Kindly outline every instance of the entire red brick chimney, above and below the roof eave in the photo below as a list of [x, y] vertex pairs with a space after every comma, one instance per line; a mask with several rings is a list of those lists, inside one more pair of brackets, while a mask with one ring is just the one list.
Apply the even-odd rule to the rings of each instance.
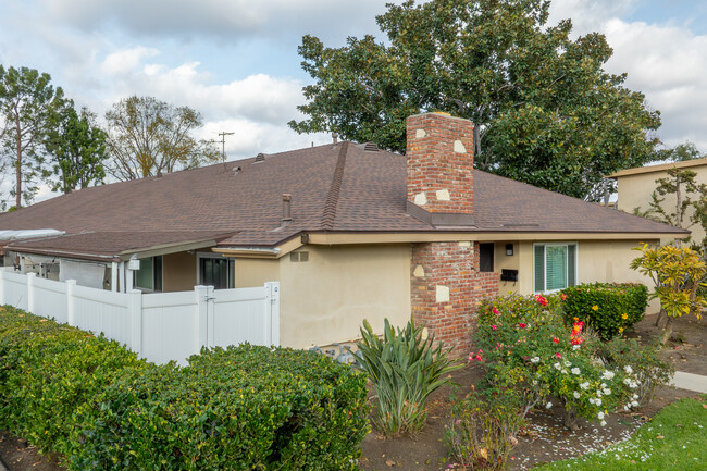
[[[408, 213], [439, 228], [472, 228], [473, 124], [446, 113], [418, 114], [408, 117], [407, 138]], [[498, 294], [498, 275], [479, 271], [479, 243], [470, 234], [412, 244], [410, 271], [415, 322], [466, 355], [476, 306]]]

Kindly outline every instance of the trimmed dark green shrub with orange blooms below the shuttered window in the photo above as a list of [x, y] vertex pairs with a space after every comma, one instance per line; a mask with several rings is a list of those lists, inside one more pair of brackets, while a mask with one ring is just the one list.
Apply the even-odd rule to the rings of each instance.
[[565, 321], [573, 318], [591, 325], [608, 340], [641, 321], [648, 306], [648, 288], [641, 284], [594, 283], [562, 292]]

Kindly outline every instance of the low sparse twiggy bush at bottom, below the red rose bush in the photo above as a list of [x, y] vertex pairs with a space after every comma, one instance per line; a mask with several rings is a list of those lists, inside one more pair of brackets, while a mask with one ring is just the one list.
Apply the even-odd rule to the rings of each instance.
[[503, 470], [524, 423], [522, 405], [512, 392], [482, 397], [472, 391], [452, 400], [445, 439], [451, 457], [468, 470]]

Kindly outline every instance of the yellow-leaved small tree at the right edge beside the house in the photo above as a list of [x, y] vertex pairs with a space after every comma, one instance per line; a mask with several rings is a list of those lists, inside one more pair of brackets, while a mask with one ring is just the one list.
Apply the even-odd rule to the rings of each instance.
[[650, 248], [647, 244], [634, 250], [642, 252], [641, 257], [631, 262], [631, 268], [644, 275], [650, 276], [655, 284], [652, 298], [660, 300], [660, 314], [656, 325], [663, 315], [668, 317], [662, 342], [670, 338], [672, 323], [683, 314], [694, 314], [702, 318], [702, 311], [707, 308], [700, 287], [707, 275], [707, 263], [698, 252], [687, 247], [662, 246]]

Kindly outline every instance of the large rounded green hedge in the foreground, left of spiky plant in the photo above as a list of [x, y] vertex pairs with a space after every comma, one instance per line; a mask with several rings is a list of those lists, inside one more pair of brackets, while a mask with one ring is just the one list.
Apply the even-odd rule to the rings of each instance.
[[77, 442], [76, 470], [356, 470], [365, 377], [308, 351], [203, 351], [112, 385]]

